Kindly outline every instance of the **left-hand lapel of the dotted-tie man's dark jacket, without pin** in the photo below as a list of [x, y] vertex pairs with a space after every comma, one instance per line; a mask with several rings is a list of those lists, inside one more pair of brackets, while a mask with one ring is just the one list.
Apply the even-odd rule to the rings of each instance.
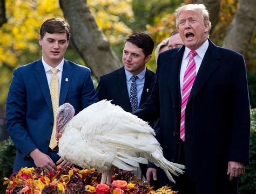
[[124, 106], [126, 110], [130, 110], [131, 112], [132, 109], [131, 109], [130, 98], [129, 98], [127, 85], [126, 85], [126, 75], [125, 75], [124, 67], [120, 68], [119, 71], [117, 71], [116, 81], [117, 81], [117, 87], [118, 87], [118, 90], [120, 91]]

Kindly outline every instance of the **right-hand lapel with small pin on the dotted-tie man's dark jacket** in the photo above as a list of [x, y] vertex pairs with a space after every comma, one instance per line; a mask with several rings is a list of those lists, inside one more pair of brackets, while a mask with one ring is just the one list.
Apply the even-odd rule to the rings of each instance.
[[145, 74], [145, 83], [142, 91], [142, 97], [140, 98], [139, 105], [142, 105], [146, 102], [147, 97], [150, 95], [150, 90], [152, 90], [152, 85], [154, 82], [154, 75], [150, 73], [148, 69], [146, 69], [146, 74]]

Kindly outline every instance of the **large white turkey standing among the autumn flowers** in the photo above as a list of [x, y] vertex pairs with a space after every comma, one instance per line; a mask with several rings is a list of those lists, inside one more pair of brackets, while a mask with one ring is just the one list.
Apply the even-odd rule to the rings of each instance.
[[183, 165], [165, 159], [150, 125], [120, 106], [101, 100], [74, 113], [69, 103], [58, 109], [59, 155], [82, 168], [96, 168], [103, 173], [101, 183], [111, 182], [114, 166], [131, 171], [147, 161], [163, 169], [172, 182], [171, 174], [183, 173]]

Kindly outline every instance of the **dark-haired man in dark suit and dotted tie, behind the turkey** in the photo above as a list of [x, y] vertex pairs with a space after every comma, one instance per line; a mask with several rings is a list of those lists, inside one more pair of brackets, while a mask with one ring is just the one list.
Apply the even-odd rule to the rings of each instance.
[[129, 35], [125, 39], [123, 50], [124, 67], [100, 76], [97, 87], [99, 100], [112, 100], [112, 104], [121, 106], [127, 112], [136, 110], [131, 100], [133, 94], [131, 90], [132, 77], [137, 76], [137, 107], [145, 103], [155, 79], [154, 72], [145, 67], [152, 57], [153, 48], [154, 42], [149, 35], [142, 32]]

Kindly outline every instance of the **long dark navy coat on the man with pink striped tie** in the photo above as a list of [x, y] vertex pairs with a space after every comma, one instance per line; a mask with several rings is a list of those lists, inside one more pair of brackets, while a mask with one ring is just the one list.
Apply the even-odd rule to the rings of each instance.
[[[197, 193], [236, 193], [237, 179], [228, 180], [227, 164], [249, 163], [246, 66], [242, 55], [208, 41], [185, 111], [185, 165]], [[147, 121], [160, 116], [159, 141], [172, 162], [180, 160], [179, 75], [184, 50], [185, 46], [159, 55], [152, 94], [134, 112]]]

